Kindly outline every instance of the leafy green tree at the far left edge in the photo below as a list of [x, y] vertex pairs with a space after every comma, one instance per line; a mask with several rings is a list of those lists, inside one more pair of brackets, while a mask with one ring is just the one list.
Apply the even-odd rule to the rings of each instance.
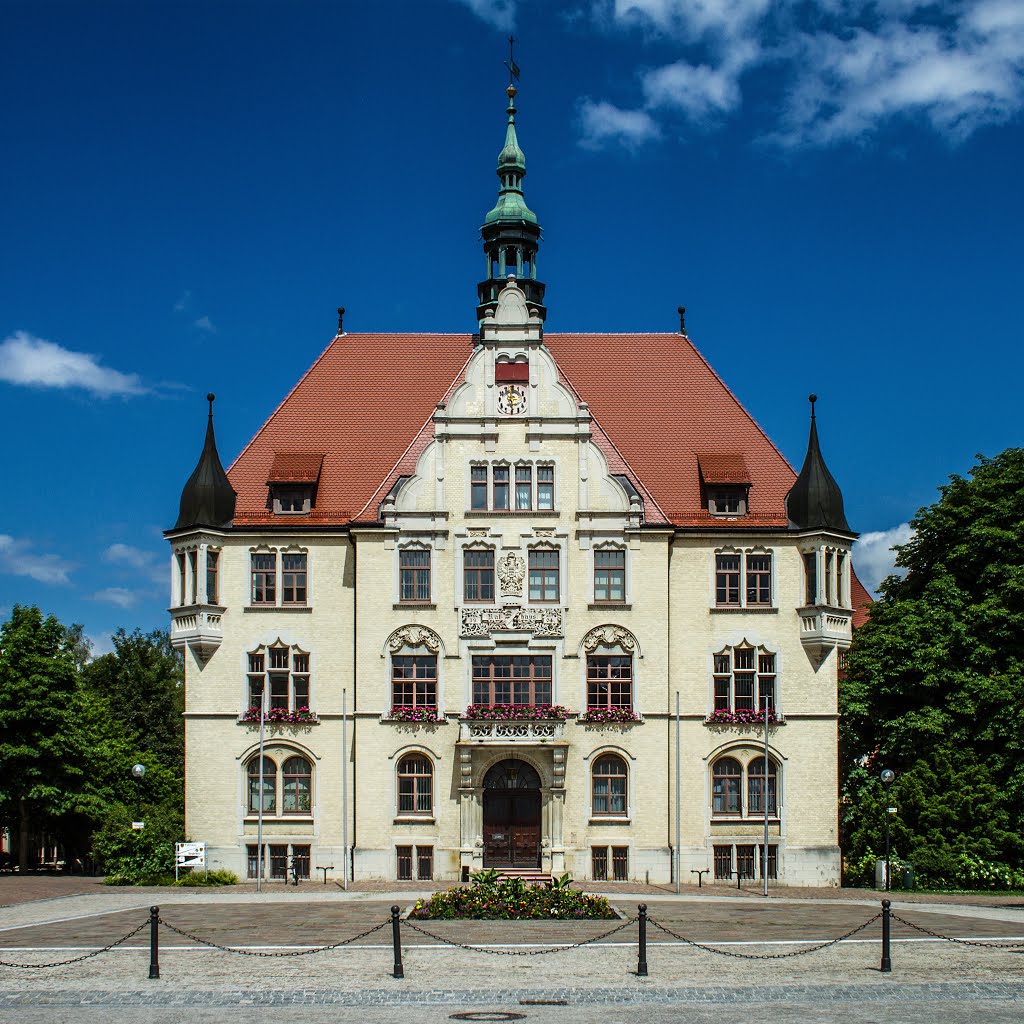
[[0, 813], [22, 869], [33, 835], [66, 813], [80, 787], [75, 757], [79, 637], [39, 608], [14, 605], [0, 626]]

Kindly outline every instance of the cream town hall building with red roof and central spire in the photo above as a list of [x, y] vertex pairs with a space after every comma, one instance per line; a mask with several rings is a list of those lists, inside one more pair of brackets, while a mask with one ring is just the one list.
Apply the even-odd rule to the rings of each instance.
[[472, 333], [339, 317], [226, 473], [210, 396], [167, 532], [188, 838], [267, 880], [838, 885], [866, 594], [813, 398], [798, 474], [682, 310], [545, 332], [515, 96]]

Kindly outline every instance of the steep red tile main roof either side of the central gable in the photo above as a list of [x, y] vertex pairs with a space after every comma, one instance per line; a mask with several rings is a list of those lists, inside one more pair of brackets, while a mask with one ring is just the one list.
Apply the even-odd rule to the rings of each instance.
[[[735, 528], [700, 501], [699, 458], [738, 456], [749, 526], [786, 525], [796, 474], [692, 343], [678, 334], [547, 334], [563, 381], [587, 401], [594, 442], [643, 495], [648, 522]], [[344, 334], [295, 385], [228, 470], [239, 526], [280, 524], [266, 481], [279, 453], [324, 454], [316, 525], [376, 520], [394, 478], [430, 442], [438, 401], [463, 379], [472, 337]], [[736, 482], [730, 480], [728, 482]], [[288, 520], [294, 528], [295, 518]]]

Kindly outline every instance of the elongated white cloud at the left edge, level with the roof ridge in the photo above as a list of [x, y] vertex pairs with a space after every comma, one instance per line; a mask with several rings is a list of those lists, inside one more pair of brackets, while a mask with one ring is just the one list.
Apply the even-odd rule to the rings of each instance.
[[96, 355], [73, 352], [25, 331], [0, 343], [0, 380], [27, 387], [82, 388], [100, 398], [150, 390], [137, 374], [101, 367]]

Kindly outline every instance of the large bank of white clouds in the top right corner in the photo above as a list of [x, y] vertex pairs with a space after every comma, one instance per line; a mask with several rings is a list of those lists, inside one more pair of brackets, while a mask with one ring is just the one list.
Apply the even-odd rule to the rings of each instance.
[[605, 31], [639, 27], [680, 56], [637, 69], [636, 109], [585, 100], [648, 118], [639, 134], [595, 135], [584, 121], [587, 147], [636, 146], [680, 116], [723, 121], [755, 70], [759, 101], [777, 112], [764, 139], [781, 146], [863, 140], [905, 118], [957, 143], [1024, 111], [1020, 0], [596, 0], [592, 12]]

